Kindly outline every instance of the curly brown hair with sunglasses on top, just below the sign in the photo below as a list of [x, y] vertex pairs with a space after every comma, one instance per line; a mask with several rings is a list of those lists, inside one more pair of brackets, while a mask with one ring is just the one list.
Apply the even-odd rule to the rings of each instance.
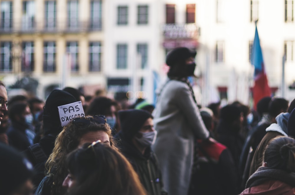
[[[91, 118], [92, 116], [86, 116], [86, 118]], [[50, 154], [47, 162], [45, 163], [46, 175], [52, 177], [53, 185], [51, 186], [51, 194], [59, 195], [64, 194], [65, 189], [63, 189], [63, 180], [68, 174], [65, 166], [65, 159], [68, 153], [75, 150], [80, 142], [83, 135], [88, 132], [104, 131], [109, 136], [110, 145], [112, 148], [117, 150], [115, 142], [111, 134], [110, 126], [105, 124], [99, 124], [94, 121], [89, 120], [89, 125], [77, 126], [71, 121], [66, 125], [63, 130], [58, 134], [53, 152]]]

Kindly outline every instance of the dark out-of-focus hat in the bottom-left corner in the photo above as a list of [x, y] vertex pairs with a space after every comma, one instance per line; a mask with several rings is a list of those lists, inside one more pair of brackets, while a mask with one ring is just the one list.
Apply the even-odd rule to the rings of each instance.
[[32, 164], [14, 148], [0, 143], [0, 159], [0, 194], [12, 193], [32, 177]]

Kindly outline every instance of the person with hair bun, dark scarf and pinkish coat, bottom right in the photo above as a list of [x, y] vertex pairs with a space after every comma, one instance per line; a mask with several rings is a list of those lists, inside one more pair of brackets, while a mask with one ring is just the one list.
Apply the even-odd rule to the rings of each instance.
[[265, 148], [263, 166], [250, 176], [244, 194], [294, 194], [295, 140], [279, 136]]

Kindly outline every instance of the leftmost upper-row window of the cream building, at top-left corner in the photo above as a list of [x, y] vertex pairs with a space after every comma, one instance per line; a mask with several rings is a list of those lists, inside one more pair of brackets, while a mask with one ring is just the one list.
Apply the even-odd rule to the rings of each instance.
[[1, 29], [12, 29], [12, 1], [1, 2]]

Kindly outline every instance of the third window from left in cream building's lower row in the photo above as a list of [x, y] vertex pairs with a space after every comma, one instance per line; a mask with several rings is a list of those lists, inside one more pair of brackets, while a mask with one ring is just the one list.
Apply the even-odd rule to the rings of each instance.
[[43, 52], [44, 52], [43, 71], [55, 72], [56, 70], [55, 42], [44, 42]]

